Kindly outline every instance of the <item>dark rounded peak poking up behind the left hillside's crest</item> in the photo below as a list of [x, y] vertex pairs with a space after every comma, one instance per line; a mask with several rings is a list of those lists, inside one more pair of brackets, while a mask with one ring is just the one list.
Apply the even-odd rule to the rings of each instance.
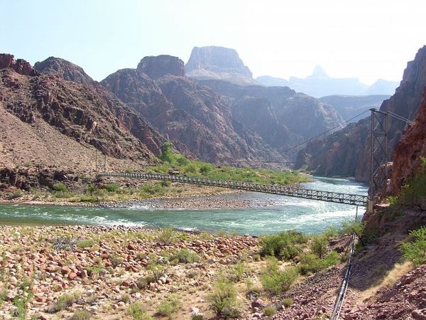
[[94, 80], [81, 67], [61, 58], [49, 57], [46, 60], [35, 63], [34, 68], [40, 73], [55, 73], [60, 75], [62, 79], [84, 85], [92, 85], [94, 83]]

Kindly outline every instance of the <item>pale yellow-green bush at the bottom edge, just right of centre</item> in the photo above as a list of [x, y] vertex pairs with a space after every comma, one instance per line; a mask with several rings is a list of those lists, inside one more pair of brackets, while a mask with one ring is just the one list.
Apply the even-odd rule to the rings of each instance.
[[232, 282], [219, 279], [214, 284], [214, 292], [209, 296], [210, 308], [217, 316], [236, 318], [241, 314], [240, 305], [236, 297], [236, 289]]

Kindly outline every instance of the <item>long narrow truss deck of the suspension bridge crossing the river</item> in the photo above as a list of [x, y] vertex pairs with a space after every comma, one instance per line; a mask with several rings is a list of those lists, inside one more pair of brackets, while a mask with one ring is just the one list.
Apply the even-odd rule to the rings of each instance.
[[250, 183], [244, 181], [227, 181], [207, 178], [198, 178], [192, 176], [172, 176], [168, 174], [128, 174], [125, 172], [102, 172], [101, 176], [116, 176], [121, 178], [138, 178], [148, 180], [173, 181], [180, 183], [200, 184], [203, 186], [217, 186], [222, 188], [233, 188], [244, 191], [255, 191], [261, 193], [272, 193], [281, 196], [290, 196], [295, 198], [305, 198], [319, 201], [328, 201], [335, 203], [344, 203], [353, 206], [366, 206], [367, 196], [349, 193], [337, 193], [332, 191], [320, 191], [295, 186], [266, 185], [261, 183]]

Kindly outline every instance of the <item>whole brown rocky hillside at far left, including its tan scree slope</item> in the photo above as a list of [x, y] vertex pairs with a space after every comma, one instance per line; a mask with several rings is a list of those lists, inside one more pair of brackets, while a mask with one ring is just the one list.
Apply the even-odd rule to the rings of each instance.
[[[55, 172], [62, 178], [93, 174], [97, 150], [107, 154], [110, 169], [155, 161], [163, 138], [111, 92], [65, 80], [60, 72], [40, 73], [23, 60], [8, 66], [10, 60], [13, 55], [0, 55], [6, 66], [0, 70], [1, 182], [28, 189], [45, 185], [40, 176]], [[67, 63], [49, 58], [41, 65]], [[70, 76], [85, 75], [71, 63], [62, 67], [57, 70]], [[36, 178], [26, 183], [19, 176]]]

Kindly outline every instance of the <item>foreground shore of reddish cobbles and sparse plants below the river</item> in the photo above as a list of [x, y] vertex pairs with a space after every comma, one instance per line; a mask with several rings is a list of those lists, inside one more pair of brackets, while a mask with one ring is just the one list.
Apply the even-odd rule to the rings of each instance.
[[[24, 311], [28, 319], [70, 319], [82, 310], [90, 319], [131, 319], [132, 303], [155, 314], [172, 293], [184, 302], [173, 319], [190, 319], [190, 307], [211, 314], [212, 279], [252, 259], [258, 239], [119, 226], [0, 226], [0, 243], [0, 319]], [[166, 258], [182, 249], [197, 258]], [[151, 279], [152, 266], [163, 270], [158, 279]]]

